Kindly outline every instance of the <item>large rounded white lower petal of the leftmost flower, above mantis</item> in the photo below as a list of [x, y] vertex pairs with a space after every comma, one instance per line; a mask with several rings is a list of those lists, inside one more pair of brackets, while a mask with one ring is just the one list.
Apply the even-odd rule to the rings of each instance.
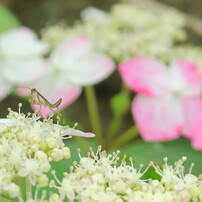
[[18, 86], [26, 86], [37, 81], [48, 68], [47, 62], [38, 57], [27, 60], [10, 59], [4, 61], [3, 65], [5, 77]]

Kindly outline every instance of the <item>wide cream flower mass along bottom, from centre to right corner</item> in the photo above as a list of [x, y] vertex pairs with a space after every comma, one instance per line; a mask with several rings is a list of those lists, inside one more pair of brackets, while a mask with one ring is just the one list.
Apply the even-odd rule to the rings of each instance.
[[[51, 186], [58, 189], [59, 194], [53, 194], [50, 198], [63, 201], [111, 201], [111, 202], [184, 202], [202, 201], [202, 179], [191, 174], [184, 173], [183, 157], [175, 162], [175, 166], [165, 164], [162, 170], [153, 165], [160, 180], [142, 180], [144, 172], [127, 165], [125, 157], [118, 157], [119, 151], [112, 155], [98, 149], [96, 153], [90, 151], [88, 157], [81, 157], [80, 162], [74, 163], [70, 173], [64, 173], [60, 182], [55, 172], [52, 172], [55, 181]], [[56, 185], [59, 184], [59, 185]]]

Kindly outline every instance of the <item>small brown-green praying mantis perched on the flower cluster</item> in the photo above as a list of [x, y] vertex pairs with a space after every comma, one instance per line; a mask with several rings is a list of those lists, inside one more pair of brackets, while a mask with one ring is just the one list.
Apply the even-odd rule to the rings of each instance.
[[29, 98], [28, 101], [30, 104], [39, 105], [41, 110], [41, 107], [48, 107], [52, 112], [57, 113], [61, 115], [59, 112], [55, 111], [54, 109], [60, 106], [62, 103], [62, 98], [58, 99], [54, 104], [51, 104], [41, 93], [39, 93], [36, 88], [29, 88], [31, 90], [31, 95], [35, 95], [37, 99], [34, 99], [33, 97]]

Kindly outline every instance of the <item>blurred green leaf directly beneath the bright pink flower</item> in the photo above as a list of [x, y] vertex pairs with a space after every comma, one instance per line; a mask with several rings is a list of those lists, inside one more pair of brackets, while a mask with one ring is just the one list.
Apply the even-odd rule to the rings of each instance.
[[192, 173], [202, 174], [202, 151], [194, 150], [191, 147], [190, 140], [179, 138], [168, 142], [134, 142], [121, 149], [121, 154], [132, 156], [135, 165], [148, 165], [150, 161], [161, 165], [163, 158], [168, 157], [168, 163], [173, 163], [182, 156], [187, 157], [185, 162], [186, 171], [189, 170], [190, 163], [195, 163]]

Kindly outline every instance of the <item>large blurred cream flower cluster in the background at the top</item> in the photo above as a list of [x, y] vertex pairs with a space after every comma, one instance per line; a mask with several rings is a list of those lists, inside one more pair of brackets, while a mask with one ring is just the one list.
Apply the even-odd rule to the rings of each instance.
[[87, 8], [73, 27], [49, 27], [43, 38], [56, 44], [86, 35], [96, 48], [121, 62], [135, 55], [161, 57], [176, 41], [185, 39], [184, 18], [173, 9], [152, 10], [134, 3], [115, 4], [109, 13]]

